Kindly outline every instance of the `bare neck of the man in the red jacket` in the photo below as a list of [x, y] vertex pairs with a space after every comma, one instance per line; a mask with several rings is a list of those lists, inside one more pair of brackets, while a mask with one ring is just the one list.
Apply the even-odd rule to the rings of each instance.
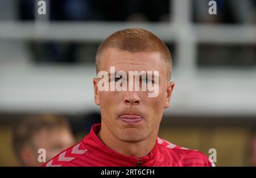
[[144, 140], [139, 142], [125, 142], [118, 139], [117, 136], [108, 130], [108, 127], [106, 127], [104, 122], [101, 122], [101, 130], [97, 136], [104, 144], [106, 144], [106, 146], [115, 152], [126, 156], [141, 158], [143, 156], [147, 156], [154, 148], [157, 135], [158, 127]]

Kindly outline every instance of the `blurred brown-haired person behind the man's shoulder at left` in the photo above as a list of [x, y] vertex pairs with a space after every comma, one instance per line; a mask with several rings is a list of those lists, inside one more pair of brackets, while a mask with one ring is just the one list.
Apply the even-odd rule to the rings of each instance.
[[67, 119], [58, 115], [34, 115], [21, 119], [13, 129], [13, 147], [23, 166], [42, 165], [38, 150], [46, 150], [46, 161], [75, 143]]

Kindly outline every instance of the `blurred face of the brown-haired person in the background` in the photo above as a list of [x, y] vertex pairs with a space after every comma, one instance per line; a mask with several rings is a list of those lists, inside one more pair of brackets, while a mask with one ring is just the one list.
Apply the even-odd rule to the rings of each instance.
[[53, 129], [39, 130], [31, 140], [20, 151], [23, 163], [28, 166], [39, 166], [43, 163], [38, 162], [38, 150], [44, 148], [46, 150], [46, 162], [59, 154], [61, 151], [71, 147], [75, 143], [75, 139], [69, 129], [65, 127]]

